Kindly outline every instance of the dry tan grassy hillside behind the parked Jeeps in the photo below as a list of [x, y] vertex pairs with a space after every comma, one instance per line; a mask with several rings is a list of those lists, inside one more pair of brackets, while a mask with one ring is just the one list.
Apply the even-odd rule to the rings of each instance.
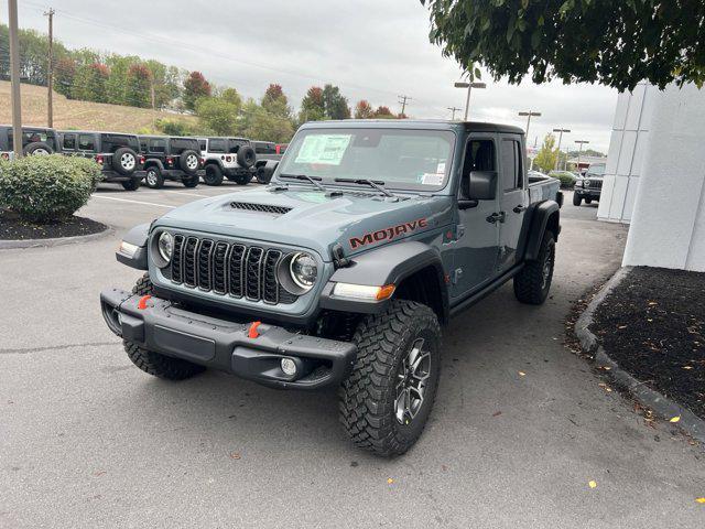
[[[22, 125], [46, 127], [46, 87], [22, 85]], [[156, 119], [184, 120], [195, 123], [193, 116], [181, 116], [147, 108], [122, 107], [105, 102], [76, 101], [54, 93], [54, 128], [111, 130], [116, 132], [147, 131]], [[10, 83], [0, 82], [0, 123], [12, 122]]]

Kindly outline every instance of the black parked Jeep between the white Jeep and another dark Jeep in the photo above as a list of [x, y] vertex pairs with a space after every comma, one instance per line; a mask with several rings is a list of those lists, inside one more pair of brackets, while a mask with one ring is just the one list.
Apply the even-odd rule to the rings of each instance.
[[140, 136], [139, 139], [148, 187], [159, 190], [165, 180], [181, 182], [186, 187], [198, 185], [203, 163], [197, 139], [166, 136]]

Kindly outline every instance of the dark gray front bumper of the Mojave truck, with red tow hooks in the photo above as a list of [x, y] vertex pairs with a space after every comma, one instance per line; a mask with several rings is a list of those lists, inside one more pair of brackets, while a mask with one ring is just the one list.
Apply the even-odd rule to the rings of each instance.
[[[143, 301], [123, 290], [100, 293], [102, 316], [116, 335], [145, 349], [183, 358], [282, 389], [317, 389], [337, 386], [349, 374], [357, 348], [348, 342], [292, 333], [251, 322], [230, 322], [185, 311], [160, 298]], [[254, 334], [258, 334], [256, 337]], [[292, 358], [297, 374], [280, 367]]]

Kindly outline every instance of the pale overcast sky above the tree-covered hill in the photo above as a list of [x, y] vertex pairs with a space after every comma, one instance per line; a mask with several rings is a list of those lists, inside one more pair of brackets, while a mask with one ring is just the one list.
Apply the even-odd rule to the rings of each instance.
[[[429, 14], [419, 0], [20, 0], [20, 26], [46, 30], [47, 7], [56, 10], [55, 37], [68, 47], [91, 47], [156, 58], [198, 69], [245, 97], [261, 97], [279, 83], [294, 108], [312, 85], [333, 83], [350, 106], [368, 99], [400, 111], [398, 95], [408, 95], [406, 114], [416, 118], [451, 117], [447, 107], [464, 107], [465, 91], [453, 87], [460, 71], [429, 43]], [[0, 22], [7, 23], [7, 0]], [[482, 72], [485, 90], [473, 90], [470, 119], [525, 126], [520, 110], [533, 118], [529, 143], [556, 127], [564, 136], [590, 141], [607, 152], [617, 93], [597, 85], [552, 83], [521, 85], [495, 82]], [[456, 114], [456, 117], [459, 114]]]

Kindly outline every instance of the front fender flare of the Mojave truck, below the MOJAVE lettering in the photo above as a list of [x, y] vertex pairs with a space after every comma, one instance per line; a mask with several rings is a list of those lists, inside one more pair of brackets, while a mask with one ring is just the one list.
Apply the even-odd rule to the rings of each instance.
[[[383, 287], [399, 285], [406, 278], [424, 269], [433, 270], [441, 293], [441, 306], [437, 315], [441, 323], [448, 321], [449, 300], [446, 288], [443, 261], [437, 249], [420, 241], [404, 241], [376, 248], [350, 258], [350, 264], [336, 270], [321, 294], [321, 307], [340, 312], [375, 314], [383, 312], [389, 300], [370, 302], [336, 298], [333, 294], [335, 283], [365, 284]], [[393, 296], [392, 296], [393, 298]]]

